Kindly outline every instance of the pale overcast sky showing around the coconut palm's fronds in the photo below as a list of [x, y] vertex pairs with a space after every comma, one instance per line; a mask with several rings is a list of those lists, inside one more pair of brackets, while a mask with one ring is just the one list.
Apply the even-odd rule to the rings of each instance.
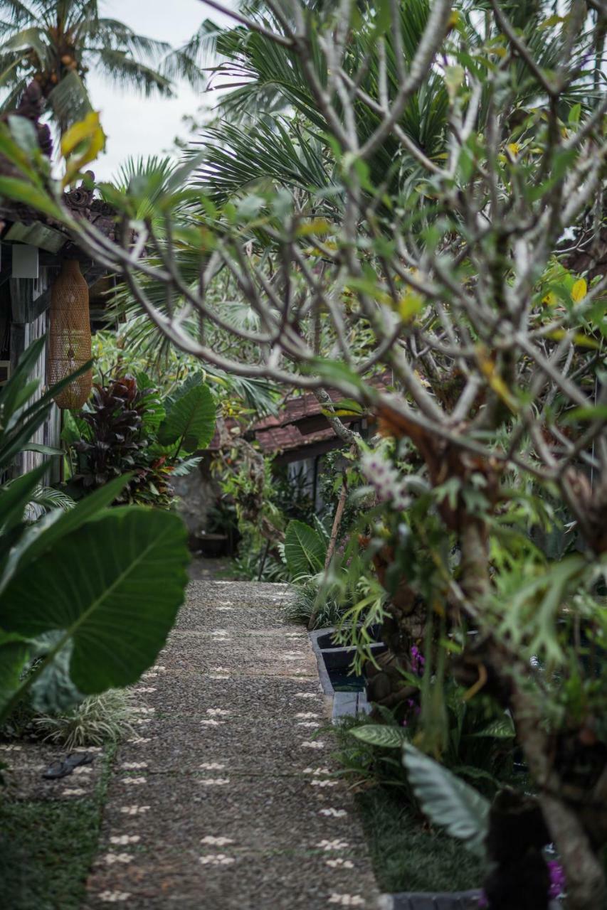
[[[126, 22], [141, 35], [179, 46], [188, 40], [206, 18], [218, 17], [201, 0], [103, 0], [103, 15]], [[225, 21], [225, 20], [224, 20]], [[108, 136], [108, 146], [93, 165], [98, 180], [108, 180], [129, 156], [159, 155], [170, 148], [175, 136], [186, 135], [184, 115], [195, 116], [205, 104], [202, 93], [177, 86], [177, 96], [146, 98], [132, 89], [118, 89], [97, 76], [87, 76], [88, 91]]]

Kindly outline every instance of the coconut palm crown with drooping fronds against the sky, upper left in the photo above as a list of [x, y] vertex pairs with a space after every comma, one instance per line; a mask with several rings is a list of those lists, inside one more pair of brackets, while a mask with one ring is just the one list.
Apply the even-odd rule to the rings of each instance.
[[64, 130], [90, 109], [89, 69], [145, 95], [172, 95], [172, 80], [201, 86], [201, 68], [185, 50], [136, 34], [99, 15], [98, 0], [0, 0], [0, 110], [10, 110], [31, 79]]

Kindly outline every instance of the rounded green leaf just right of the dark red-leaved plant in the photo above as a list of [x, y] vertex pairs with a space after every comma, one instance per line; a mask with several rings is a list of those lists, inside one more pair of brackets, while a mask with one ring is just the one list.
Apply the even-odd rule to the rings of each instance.
[[180, 451], [205, 449], [215, 432], [215, 399], [211, 389], [196, 385], [170, 404], [169, 412], [158, 431], [163, 446], [179, 444]]

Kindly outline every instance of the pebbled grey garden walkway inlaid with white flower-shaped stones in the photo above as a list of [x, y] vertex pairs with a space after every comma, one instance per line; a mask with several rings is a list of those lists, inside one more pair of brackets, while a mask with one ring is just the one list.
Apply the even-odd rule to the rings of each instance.
[[283, 585], [192, 581], [137, 687], [86, 910], [376, 907], [314, 655]]

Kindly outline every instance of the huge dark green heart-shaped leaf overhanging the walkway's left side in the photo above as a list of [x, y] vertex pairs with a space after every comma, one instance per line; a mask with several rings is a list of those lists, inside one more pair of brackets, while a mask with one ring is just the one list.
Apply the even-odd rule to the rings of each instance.
[[0, 627], [27, 638], [62, 632], [52, 653], [71, 642], [69, 672], [81, 693], [129, 685], [175, 622], [188, 561], [176, 515], [108, 511], [15, 574], [0, 602]]

